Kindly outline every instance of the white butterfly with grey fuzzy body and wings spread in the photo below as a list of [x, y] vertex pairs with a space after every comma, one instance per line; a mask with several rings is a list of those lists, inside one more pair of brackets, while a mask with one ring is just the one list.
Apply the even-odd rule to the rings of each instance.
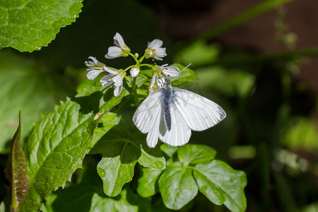
[[137, 108], [133, 121], [147, 135], [147, 145], [154, 148], [158, 138], [170, 146], [189, 142], [191, 130], [204, 131], [222, 121], [222, 107], [189, 90], [172, 88], [165, 78], [163, 88], [150, 93]]

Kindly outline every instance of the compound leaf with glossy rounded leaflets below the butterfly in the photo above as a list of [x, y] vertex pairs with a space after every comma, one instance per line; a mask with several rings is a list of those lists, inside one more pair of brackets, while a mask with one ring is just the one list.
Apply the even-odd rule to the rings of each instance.
[[178, 210], [192, 201], [199, 190], [214, 204], [224, 204], [230, 211], [245, 211], [245, 173], [215, 160], [215, 155], [216, 151], [208, 146], [182, 146], [167, 169], [143, 169], [137, 192], [147, 197], [160, 191], [165, 206]]

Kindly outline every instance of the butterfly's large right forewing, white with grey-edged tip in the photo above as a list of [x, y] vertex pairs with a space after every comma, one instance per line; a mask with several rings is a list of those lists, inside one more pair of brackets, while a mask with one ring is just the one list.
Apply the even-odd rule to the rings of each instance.
[[215, 102], [189, 90], [174, 88], [175, 107], [194, 131], [208, 129], [225, 117], [225, 111]]

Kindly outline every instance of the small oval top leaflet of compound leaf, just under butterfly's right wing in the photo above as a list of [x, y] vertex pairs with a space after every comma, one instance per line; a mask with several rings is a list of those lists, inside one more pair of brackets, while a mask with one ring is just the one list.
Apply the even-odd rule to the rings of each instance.
[[194, 144], [180, 147], [177, 153], [179, 160], [184, 165], [208, 162], [216, 156], [216, 151], [213, 148]]

